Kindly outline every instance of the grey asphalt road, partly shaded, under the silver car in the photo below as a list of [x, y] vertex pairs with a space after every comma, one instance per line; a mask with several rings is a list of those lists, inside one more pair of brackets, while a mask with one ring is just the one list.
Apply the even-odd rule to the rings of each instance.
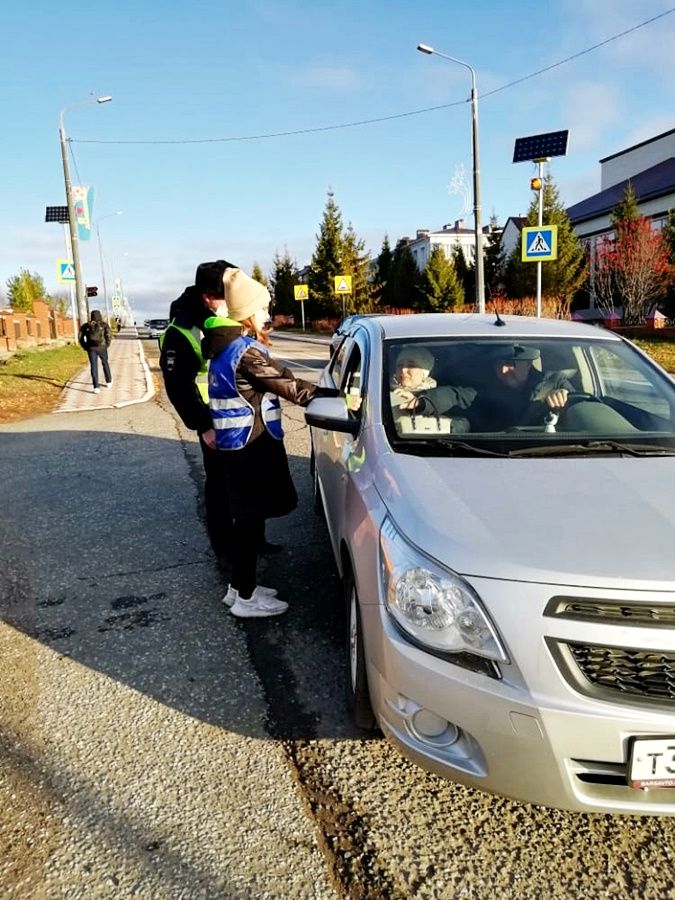
[[675, 820], [491, 797], [355, 733], [302, 411], [285, 424], [300, 504], [261, 581], [291, 609], [260, 622], [219, 603], [199, 449], [161, 394], [0, 428], [0, 895], [675, 896]]

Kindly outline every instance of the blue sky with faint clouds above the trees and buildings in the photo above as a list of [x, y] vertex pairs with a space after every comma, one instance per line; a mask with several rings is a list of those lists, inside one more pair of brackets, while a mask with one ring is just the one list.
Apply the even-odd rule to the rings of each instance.
[[[484, 223], [529, 206], [533, 167], [511, 162], [522, 135], [569, 129], [568, 155], [552, 163], [562, 199], [595, 193], [600, 158], [675, 127], [675, 12], [488, 94], [673, 7], [5, 0], [0, 296], [22, 268], [63, 292], [63, 227], [44, 212], [65, 203], [59, 112], [92, 94], [113, 101], [65, 112], [72, 178], [94, 188], [108, 285], [122, 278], [140, 320], [165, 314], [200, 261], [222, 257], [249, 272], [257, 261], [267, 273], [286, 247], [309, 262], [329, 188], [373, 255], [385, 233], [393, 244], [458, 218], [471, 227], [469, 72], [416, 52], [420, 42], [476, 70]], [[384, 116], [399, 117], [245, 139]], [[166, 143], [142, 143], [152, 141]], [[468, 193], [451, 189], [462, 169]], [[81, 258], [85, 281], [100, 287], [95, 231]]]

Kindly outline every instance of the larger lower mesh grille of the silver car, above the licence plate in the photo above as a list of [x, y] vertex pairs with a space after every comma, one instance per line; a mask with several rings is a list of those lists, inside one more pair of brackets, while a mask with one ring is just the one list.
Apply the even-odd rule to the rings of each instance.
[[675, 653], [571, 644], [567, 648], [592, 685], [619, 695], [675, 701]]

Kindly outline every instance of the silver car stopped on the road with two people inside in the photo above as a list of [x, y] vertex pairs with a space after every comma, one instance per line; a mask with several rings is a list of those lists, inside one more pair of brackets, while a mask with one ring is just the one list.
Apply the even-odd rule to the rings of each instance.
[[321, 379], [357, 724], [486, 791], [675, 814], [671, 377], [592, 326], [430, 314], [354, 320]]

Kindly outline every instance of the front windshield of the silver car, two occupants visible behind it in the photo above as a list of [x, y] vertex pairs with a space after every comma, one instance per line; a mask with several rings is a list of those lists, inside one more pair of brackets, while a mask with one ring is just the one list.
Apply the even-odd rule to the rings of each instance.
[[389, 341], [383, 387], [404, 452], [675, 450], [675, 381], [615, 339]]

